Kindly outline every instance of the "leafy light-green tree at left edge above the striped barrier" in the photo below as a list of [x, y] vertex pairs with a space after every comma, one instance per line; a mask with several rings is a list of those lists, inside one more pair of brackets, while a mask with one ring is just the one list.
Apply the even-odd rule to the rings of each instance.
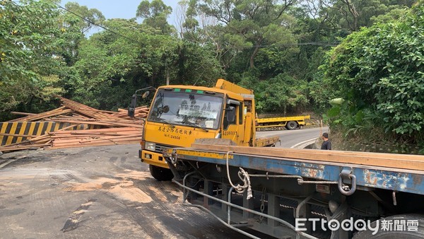
[[0, 1], [0, 111], [61, 92], [59, 14], [50, 1]]

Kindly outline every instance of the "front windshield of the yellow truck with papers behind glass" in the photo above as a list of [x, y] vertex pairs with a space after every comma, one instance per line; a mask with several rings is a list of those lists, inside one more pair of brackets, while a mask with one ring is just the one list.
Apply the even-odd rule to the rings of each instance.
[[[178, 89], [177, 89], [178, 90]], [[182, 91], [158, 91], [148, 116], [153, 122], [218, 129], [223, 94], [208, 95]], [[195, 91], [193, 91], [195, 92]]]

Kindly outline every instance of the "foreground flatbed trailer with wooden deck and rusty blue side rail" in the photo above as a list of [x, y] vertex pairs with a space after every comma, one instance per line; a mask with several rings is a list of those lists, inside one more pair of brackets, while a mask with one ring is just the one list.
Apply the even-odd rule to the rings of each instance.
[[[163, 156], [184, 204], [251, 238], [245, 228], [276, 238], [424, 238], [424, 156], [204, 144]], [[343, 229], [349, 220], [355, 227]]]

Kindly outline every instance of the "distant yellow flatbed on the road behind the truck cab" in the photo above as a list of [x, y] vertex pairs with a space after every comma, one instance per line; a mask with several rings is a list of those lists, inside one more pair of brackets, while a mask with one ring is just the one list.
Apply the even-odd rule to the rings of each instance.
[[310, 115], [292, 116], [292, 117], [272, 117], [256, 119], [257, 129], [270, 127], [285, 127], [285, 129], [298, 129], [306, 125], [306, 119], [310, 119]]

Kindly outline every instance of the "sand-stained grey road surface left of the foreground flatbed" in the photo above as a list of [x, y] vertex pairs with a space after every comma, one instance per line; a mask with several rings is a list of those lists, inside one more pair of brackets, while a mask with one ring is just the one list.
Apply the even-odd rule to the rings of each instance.
[[138, 149], [5, 153], [0, 238], [245, 238], [183, 206], [179, 188], [153, 179]]

